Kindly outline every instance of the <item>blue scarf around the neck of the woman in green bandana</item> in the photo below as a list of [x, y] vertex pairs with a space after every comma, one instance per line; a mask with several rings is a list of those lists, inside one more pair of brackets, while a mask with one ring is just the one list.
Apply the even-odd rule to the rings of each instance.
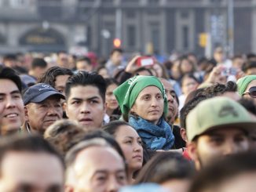
[[174, 145], [174, 134], [170, 125], [160, 118], [157, 125], [144, 118], [130, 116], [129, 124], [136, 129], [141, 139], [150, 150], [170, 150]]

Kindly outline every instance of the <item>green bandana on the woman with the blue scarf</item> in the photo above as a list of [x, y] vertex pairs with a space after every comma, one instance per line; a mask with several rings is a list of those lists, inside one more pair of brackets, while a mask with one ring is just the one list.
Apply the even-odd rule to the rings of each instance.
[[114, 90], [114, 95], [116, 97], [116, 100], [119, 102], [119, 106], [124, 117], [128, 117], [130, 109], [131, 107], [133, 107], [133, 103], [137, 99], [139, 93], [145, 87], [148, 87], [150, 85], [158, 87], [162, 92], [162, 96], [164, 98], [163, 113], [167, 114], [168, 103], [162, 82], [160, 82], [159, 79], [155, 78], [154, 76], [138, 75], [126, 80], [126, 82], [123, 82], [122, 85], [119, 85]]

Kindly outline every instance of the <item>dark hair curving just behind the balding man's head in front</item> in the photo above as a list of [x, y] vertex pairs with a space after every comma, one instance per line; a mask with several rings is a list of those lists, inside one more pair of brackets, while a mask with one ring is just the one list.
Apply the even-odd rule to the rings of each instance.
[[123, 150], [119, 146], [119, 143], [114, 139], [112, 135], [110, 135], [108, 132], [104, 132], [101, 129], [98, 130], [92, 130], [86, 133], [86, 135], [82, 138], [82, 140], [90, 140], [90, 139], [95, 139], [95, 138], [101, 138], [104, 139], [107, 143], [109, 143], [119, 154], [120, 156], [124, 159], [125, 161], [125, 156], [123, 154]]

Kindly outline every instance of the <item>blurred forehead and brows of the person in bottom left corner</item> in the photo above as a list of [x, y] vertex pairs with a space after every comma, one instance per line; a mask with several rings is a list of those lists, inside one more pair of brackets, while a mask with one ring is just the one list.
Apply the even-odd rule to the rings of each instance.
[[0, 191], [64, 191], [64, 168], [51, 154], [10, 151], [1, 169]]

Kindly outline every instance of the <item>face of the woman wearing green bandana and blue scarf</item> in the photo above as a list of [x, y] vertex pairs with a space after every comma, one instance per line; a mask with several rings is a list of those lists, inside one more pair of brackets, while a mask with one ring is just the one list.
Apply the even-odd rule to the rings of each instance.
[[137, 96], [131, 112], [153, 124], [157, 124], [163, 115], [163, 96], [159, 88], [148, 86]]

